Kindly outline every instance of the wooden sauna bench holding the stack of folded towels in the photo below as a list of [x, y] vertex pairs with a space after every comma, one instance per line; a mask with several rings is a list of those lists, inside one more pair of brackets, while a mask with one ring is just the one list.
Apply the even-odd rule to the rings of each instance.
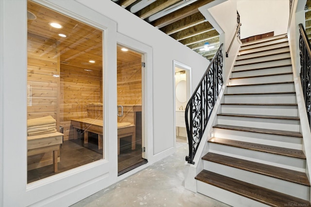
[[[53, 171], [57, 172], [57, 159], [60, 144], [63, 143], [63, 135], [60, 132], [27, 136], [27, 156], [46, 152], [53, 152]], [[41, 165], [43, 167], [45, 165]]]

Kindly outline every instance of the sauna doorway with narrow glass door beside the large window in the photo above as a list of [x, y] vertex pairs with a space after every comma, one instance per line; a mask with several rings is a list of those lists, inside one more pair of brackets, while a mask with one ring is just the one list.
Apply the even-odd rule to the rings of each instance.
[[118, 175], [144, 163], [143, 139], [144, 55], [117, 46]]

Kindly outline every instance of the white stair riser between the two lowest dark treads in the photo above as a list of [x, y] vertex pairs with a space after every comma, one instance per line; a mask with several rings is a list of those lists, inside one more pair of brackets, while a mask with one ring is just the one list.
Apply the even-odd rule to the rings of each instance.
[[270, 176], [248, 172], [245, 170], [229, 167], [226, 165], [210, 162], [207, 160], [204, 160], [203, 163], [204, 163], [203, 169], [211, 171], [213, 173], [225, 175], [227, 177], [241, 180], [243, 182], [257, 185], [273, 191], [282, 192], [304, 200], [309, 199], [309, 188], [307, 186], [299, 185], [296, 183], [288, 182]]

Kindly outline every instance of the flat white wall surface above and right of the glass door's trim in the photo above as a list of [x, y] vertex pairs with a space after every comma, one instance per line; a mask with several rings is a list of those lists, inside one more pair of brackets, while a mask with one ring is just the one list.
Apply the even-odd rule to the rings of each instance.
[[192, 88], [196, 88], [208, 61], [110, 0], [79, 2], [118, 22], [118, 32], [153, 48], [154, 155], [173, 148], [173, 60], [192, 68]]

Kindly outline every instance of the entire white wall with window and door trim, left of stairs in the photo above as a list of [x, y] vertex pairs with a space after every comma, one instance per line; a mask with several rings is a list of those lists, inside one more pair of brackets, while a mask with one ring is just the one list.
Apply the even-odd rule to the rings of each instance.
[[[38, 0], [79, 20], [104, 28], [105, 159], [27, 185], [26, 80], [27, 15], [25, 0], [0, 2], [0, 206], [69, 206], [86, 196], [141, 170], [175, 151], [173, 60], [191, 67], [196, 88], [208, 61], [190, 48], [155, 29], [111, 0]], [[79, 3], [81, 2], [81, 3]], [[12, 16], [14, 14], [14, 16]], [[96, 25], [94, 25], [96, 26]], [[146, 45], [148, 78], [148, 164], [117, 176], [116, 45], [124, 34]], [[126, 38], [122, 38], [125, 40]], [[124, 43], [125, 44], [125, 43]], [[150, 49], [149, 49], [150, 48]], [[18, 61], [16, 61], [18, 60]], [[150, 61], [152, 60], [152, 61]], [[148, 65], [151, 64], [151, 65]], [[5, 77], [5, 78], [4, 78]], [[24, 89], [24, 90], [23, 90]], [[107, 149], [107, 150], [106, 150]], [[186, 156], [186, 155], [185, 155]]]

